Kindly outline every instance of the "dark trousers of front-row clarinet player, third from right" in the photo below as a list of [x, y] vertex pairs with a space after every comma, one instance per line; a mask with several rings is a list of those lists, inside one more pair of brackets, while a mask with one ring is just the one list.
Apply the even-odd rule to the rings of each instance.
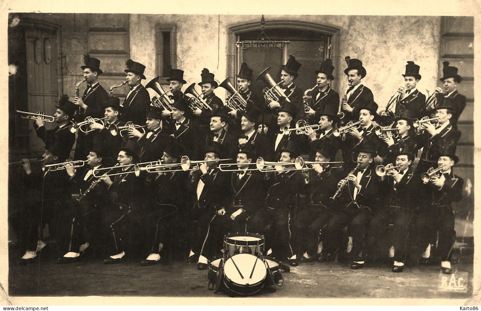
[[346, 247], [343, 230], [347, 226], [349, 235], [353, 237], [352, 259], [364, 260], [366, 227], [370, 217], [371, 211], [366, 207], [335, 213], [324, 227], [323, 241], [326, 242], [324, 244], [327, 246], [327, 252], [333, 253], [337, 248], [343, 250]]

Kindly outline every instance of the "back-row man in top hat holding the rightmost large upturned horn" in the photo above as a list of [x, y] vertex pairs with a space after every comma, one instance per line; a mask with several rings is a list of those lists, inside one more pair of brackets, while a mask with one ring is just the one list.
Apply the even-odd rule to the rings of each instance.
[[[295, 107], [295, 115], [299, 115], [301, 111], [304, 111], [302, 107], [302, 102], [303, 102], [303, 90], [296, 86], [294, 84], [294, 79], [296, 79], [299, 74], [297, 71], [301, 67], [301, 63], [296, 61], [295, 57], [292, 55], [289, 55], [289, 59], [287, 60], [286, 65], [283, 65], [281, 67], [281, 72], [280, 72], [280, 80], [281, 83], [279, 87], [281, 90], [284, 92], [284, 94], [287, 96], [289, 101], [294, 104]], [[275, 118], [277, 118], [277, 111], [286, 103], [286, 98], [280, 97], [279, 101], [272, 101], [267, 104], [267, 107], [272, 110], [272, 121], [271, 125], [275, 125]], [[302, 116], [302, 115], [300, 115]], [[275, 127], [275, 126], [274, 126]]]

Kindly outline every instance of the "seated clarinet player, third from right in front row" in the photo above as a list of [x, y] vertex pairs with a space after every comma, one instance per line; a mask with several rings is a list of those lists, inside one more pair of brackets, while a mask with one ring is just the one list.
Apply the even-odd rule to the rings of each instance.
[[337, 184], [336, 194], [340, 193], [333, 203], [335, 212], [324, 227], [323, 242], [330, 254], [334, 253], [336, 247], [340, 251], [344, 249], [346, 244], [343, 243], [342, 230], [348, 227], [353, 238], [351, 269], [364, 267], [363, 246], [367, 222], [379, 205], [379, 181], [373, 168], [375, 156], [374, 146], [363, 143], [357, 155], [357, 167]]

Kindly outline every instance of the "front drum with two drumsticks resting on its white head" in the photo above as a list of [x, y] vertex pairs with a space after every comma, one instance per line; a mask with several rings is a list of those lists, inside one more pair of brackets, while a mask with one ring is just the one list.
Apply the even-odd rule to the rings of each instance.
[[251, 254], [237, 254], [224, 264], [224, 285], [235, 294], [253, 295], [264, 287], [267, 270], [264, 262]]

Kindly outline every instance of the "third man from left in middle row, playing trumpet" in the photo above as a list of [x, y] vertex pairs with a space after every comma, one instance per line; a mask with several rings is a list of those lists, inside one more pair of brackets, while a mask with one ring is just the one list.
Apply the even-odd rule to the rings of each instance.
[[134, 127], [128, 129], [129, 136], [133, 138], [127, 143], [134, 146], [140, 162], [158, 160], [164, 153], [167, 145], [168, 134], [162, 127], [162, 111], [159, 107], [151, 107], [145, 116], [145, 133], [141, 133]]

